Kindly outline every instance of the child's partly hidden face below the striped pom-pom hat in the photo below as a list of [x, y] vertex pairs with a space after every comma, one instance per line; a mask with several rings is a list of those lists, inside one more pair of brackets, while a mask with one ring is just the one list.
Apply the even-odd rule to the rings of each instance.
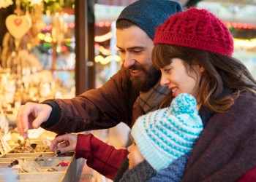
[[138, 146], [135, 143], [129, 146], [127, 151], [129, 151], [129, 154], [127, 155], [127, 158], [129, 159], [129, 170], [140, 162], [143, 162], [144, 157], [140, 154]]

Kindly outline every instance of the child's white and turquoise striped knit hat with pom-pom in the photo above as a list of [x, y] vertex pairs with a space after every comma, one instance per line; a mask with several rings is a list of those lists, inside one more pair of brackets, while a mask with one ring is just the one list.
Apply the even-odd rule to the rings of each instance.
[[132, 127], [132, 137], [140, 153], [159, 171], [192, 150], [203, 124], [192, 95], [182, 93], [170, 107], [140, 116]]

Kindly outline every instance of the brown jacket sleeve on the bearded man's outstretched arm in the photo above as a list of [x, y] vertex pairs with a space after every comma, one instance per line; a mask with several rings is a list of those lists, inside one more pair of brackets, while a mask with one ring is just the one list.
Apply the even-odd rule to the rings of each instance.
[[106, 129], [120, 122], [131, 127], [132, 105], [138, 95], [122, 67], [97, 90], [89, 90], [72, 99], [43, 102], [52, 106], [53, 111], [41, 127], [56, 133]]

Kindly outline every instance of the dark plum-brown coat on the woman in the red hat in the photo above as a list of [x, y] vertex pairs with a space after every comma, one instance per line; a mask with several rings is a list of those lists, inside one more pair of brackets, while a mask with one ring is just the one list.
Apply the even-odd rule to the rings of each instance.
[[222, 114], [200, 110], [205, 127], [182, 181], [237, 181], [256, 166], [256, 95], [241, 92], [230, 110]]

